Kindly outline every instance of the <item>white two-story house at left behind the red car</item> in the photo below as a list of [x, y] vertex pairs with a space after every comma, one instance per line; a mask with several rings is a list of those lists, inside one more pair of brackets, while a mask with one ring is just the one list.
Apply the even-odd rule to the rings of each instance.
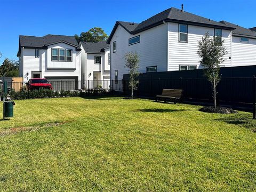
[[[19, 76], [49, 81], [81, 81], [81, 49], [74, 36], [20, 35]], [[78, 83], [77, 89], [79, 89]]]

